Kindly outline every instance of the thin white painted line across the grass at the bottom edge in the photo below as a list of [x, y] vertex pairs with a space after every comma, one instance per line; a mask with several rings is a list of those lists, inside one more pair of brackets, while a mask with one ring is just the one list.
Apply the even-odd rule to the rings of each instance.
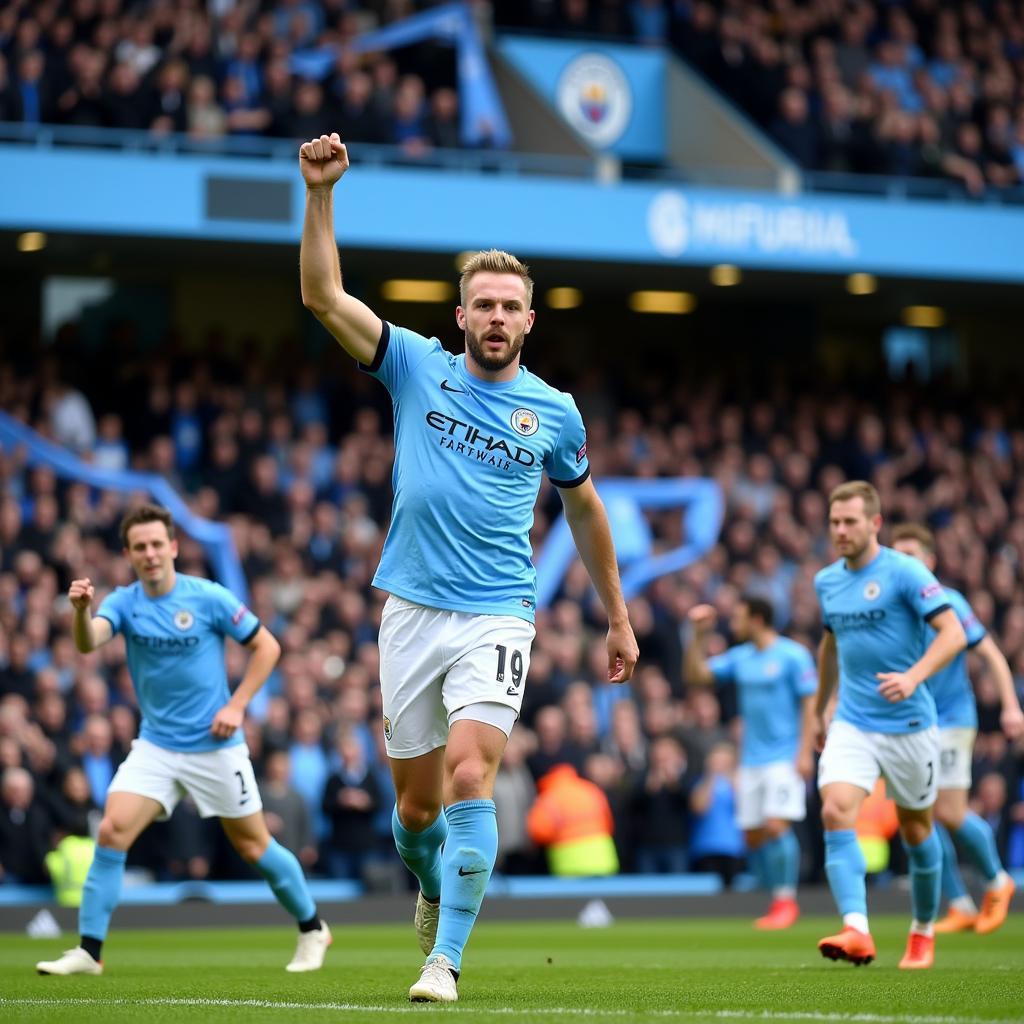
[[[341, 1013], [419, 1014], [426, 1007], [390, 1007], [380, 1004], [356, 1002], [288, 1002], [273, 999], [209, 999], [209, 998], [143, 998], [93, 999], [68, 998], [5, 998], [0, 1007], [226, 1007], [252, 1010], [329, 1010]], [[583, 1017], [611, 1019], [624, 1017], [656, 1017], [664, 1020], [743, 1020], [743, 1021], [814, 1021], [816, 1024], [1020, 1024], [1019, 1020], [992, 1017], [957, 1017], [953, 1015], [913, 1014], [841, 1014], [784, 1010], [594, 1010], [586, 1007], [458, 1007], [445, 1006], [445, 1013], [469, 1013], [488, 1017]]]

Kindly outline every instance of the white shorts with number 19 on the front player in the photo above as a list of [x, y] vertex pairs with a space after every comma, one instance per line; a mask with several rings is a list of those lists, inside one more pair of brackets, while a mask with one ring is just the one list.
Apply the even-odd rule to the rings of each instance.
[[469, 705], [503, 705], [518, 715], [535, 636], [532, 624], [515, 615], [427, 608], [392, 594], [378, 638], [388, 756], [443, 746], [451, 717]]

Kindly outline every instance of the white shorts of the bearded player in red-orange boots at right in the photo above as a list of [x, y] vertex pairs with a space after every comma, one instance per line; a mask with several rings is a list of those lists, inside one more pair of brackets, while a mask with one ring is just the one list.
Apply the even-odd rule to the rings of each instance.
[[897, 806], [931, 807], [939, 788], [939, 730], [932, 725], [919, 732], [865, 732], [834, 721], [818, 761], [818, 788], [850, 782], [871, 793], [880, 774]]

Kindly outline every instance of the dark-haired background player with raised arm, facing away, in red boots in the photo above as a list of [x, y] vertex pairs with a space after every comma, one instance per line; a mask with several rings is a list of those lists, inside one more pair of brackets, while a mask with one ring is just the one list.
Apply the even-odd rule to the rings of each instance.
[[800, 916], [797, 884], [800, 844], [793, 822], [807, 813], [804, 778], [813, 770], [811, 734], [817, 675], [810, 652], [774, 628], [771, 603], [761, 597], [737, 602], [729, 632], [737, 646], [708, 658], [707, 641], [717, 612], [710, 604], [690, 611], [693, 638], [686, 646], [691, 685], [734, 682], [743, 721], [737, 780], [737, 817], [758, 880], [771, 907], [754, 925], [790, 928]]

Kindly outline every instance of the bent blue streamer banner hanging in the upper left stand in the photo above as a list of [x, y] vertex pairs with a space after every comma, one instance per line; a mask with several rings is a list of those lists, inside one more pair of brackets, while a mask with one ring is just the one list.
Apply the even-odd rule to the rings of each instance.
[[[426, 39], [441, 39], [455, 46], [463, 144], [499, 148], [511, 145], [512, 131], [505, 108], [468, 5], [453, 3], [422, 11], [376, 32], [356, 36], [348, 48], [354, 53], [375, 53], [411, 46]], [[334, 67], [339, 49], [323, 46], [295, 53], [291, 58], [292, 71], [305, 78], [324, 78]]]

